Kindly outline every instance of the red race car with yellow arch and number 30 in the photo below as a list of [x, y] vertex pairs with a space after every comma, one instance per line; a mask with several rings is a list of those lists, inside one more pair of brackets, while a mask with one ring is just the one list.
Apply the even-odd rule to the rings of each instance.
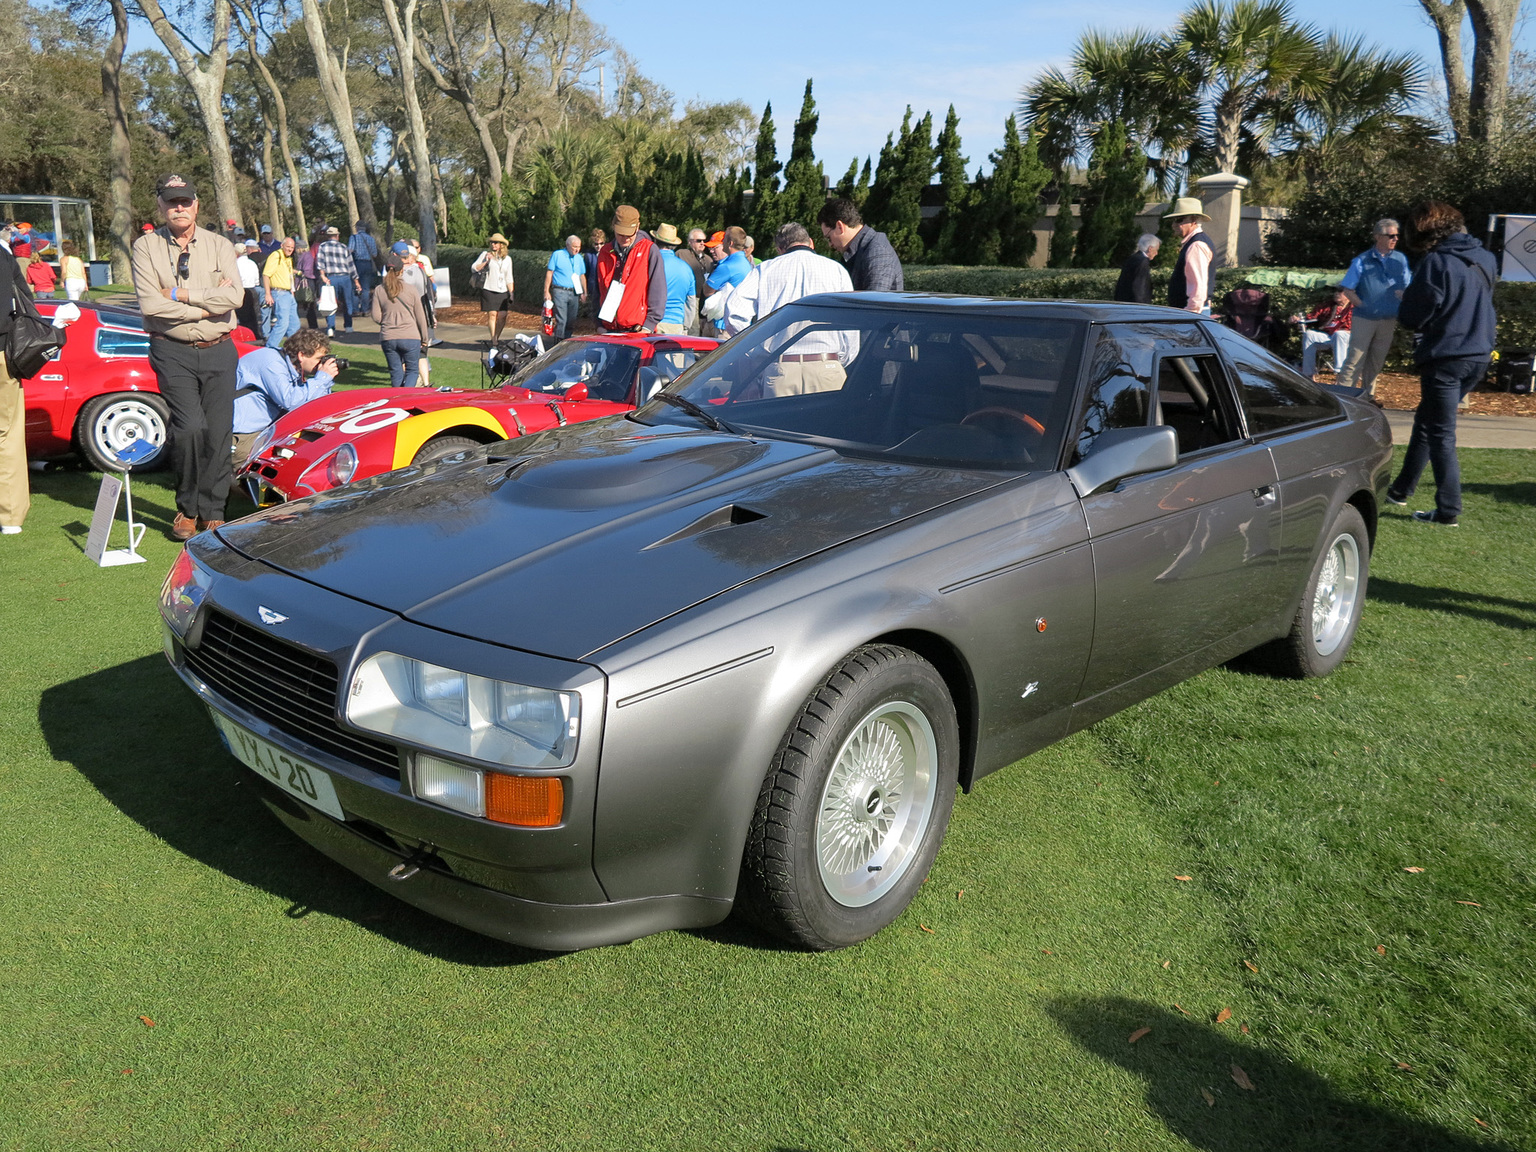
[[278, 418], [237, 479], [258, 505], [278, 504], [479, 444], [630, 412], [717, 344], [645, 333], [574, 336], [493, 389], [333, 392]]

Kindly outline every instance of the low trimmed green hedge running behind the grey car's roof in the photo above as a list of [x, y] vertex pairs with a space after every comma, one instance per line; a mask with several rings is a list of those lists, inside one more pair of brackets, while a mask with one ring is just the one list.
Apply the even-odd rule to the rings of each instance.
[[[1043, 269], [1043, 267], [962, 267], [908, 266], [903, 269], [908, 292], [955, 292], [960, 295], [1008, 296], [1012, 300], [1111, 300], [1118, 269]], [[1215, 303], [1238, 287], [1260, 287], [1269, 292], [1270, 315], [1292, 316], [1310, 312], [1327, 296], [1327, 286], [1336, 283], [1342, 270], [1287, 267], [1227, 267], [1217, 270]], [[1164, 300], [1167, 272], [1152, 269], [1152, 300]], [[1536, 347], [1536, 284], [1499, 283], [1493, 293], [1499, 313], [1499, 347]], [[1398, 329], [1387, 367], [1412, 370], [1413, 336]], [[1301, 356], [1296, 329], [1287, 326], [1283, 355]]]

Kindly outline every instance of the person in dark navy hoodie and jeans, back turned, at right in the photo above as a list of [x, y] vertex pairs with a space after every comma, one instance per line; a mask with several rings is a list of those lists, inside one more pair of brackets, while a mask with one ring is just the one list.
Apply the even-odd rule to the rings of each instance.
[[1398, 323], [1415, 330], [1419, 407], [1402, 472], [1387, 488], [1387, 502], [1407, 504], [1428, 464], [1435, 470], [1435, 510], [1415, 511], [1413, 519], [1456, 527], [1461, 516], [1456, 407], [1488, 373], [1499, 266], [1493, 253], [1467, 235], [1467, 223], [1450, 204], [1438, 200], [1421, 204], [1412, 227], [1424, 258], [1402, 293]]

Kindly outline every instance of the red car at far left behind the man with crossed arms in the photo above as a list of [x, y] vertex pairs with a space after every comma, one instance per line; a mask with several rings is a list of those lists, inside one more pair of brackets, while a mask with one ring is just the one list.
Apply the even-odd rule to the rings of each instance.
[[[40, 300], [37, 310], [52, 319], [65, 301]], [[258, 346], [250, 329], [235, 329], [240, 355]], [[149, 333], [137, 312], [80, 303], [80, 319], [58, 359], [25, 381], [26, 455], [52, 459], [78, 452], [98, 472], [121, 470], [117, 453], [137, 439], [158, 452], [134, 465], [134, 472], [166, 464], [170, 409], [160, 396], [149, 367]]]

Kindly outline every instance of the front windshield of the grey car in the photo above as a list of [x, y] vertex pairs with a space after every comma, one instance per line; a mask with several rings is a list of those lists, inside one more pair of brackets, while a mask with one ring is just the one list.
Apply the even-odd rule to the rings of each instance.
[[[730, 429], [951, 467], [1054, 468], [1086, 324], [791, 304], [670, 389]], [[647, 422], [693, 421], [660, 402]]]

